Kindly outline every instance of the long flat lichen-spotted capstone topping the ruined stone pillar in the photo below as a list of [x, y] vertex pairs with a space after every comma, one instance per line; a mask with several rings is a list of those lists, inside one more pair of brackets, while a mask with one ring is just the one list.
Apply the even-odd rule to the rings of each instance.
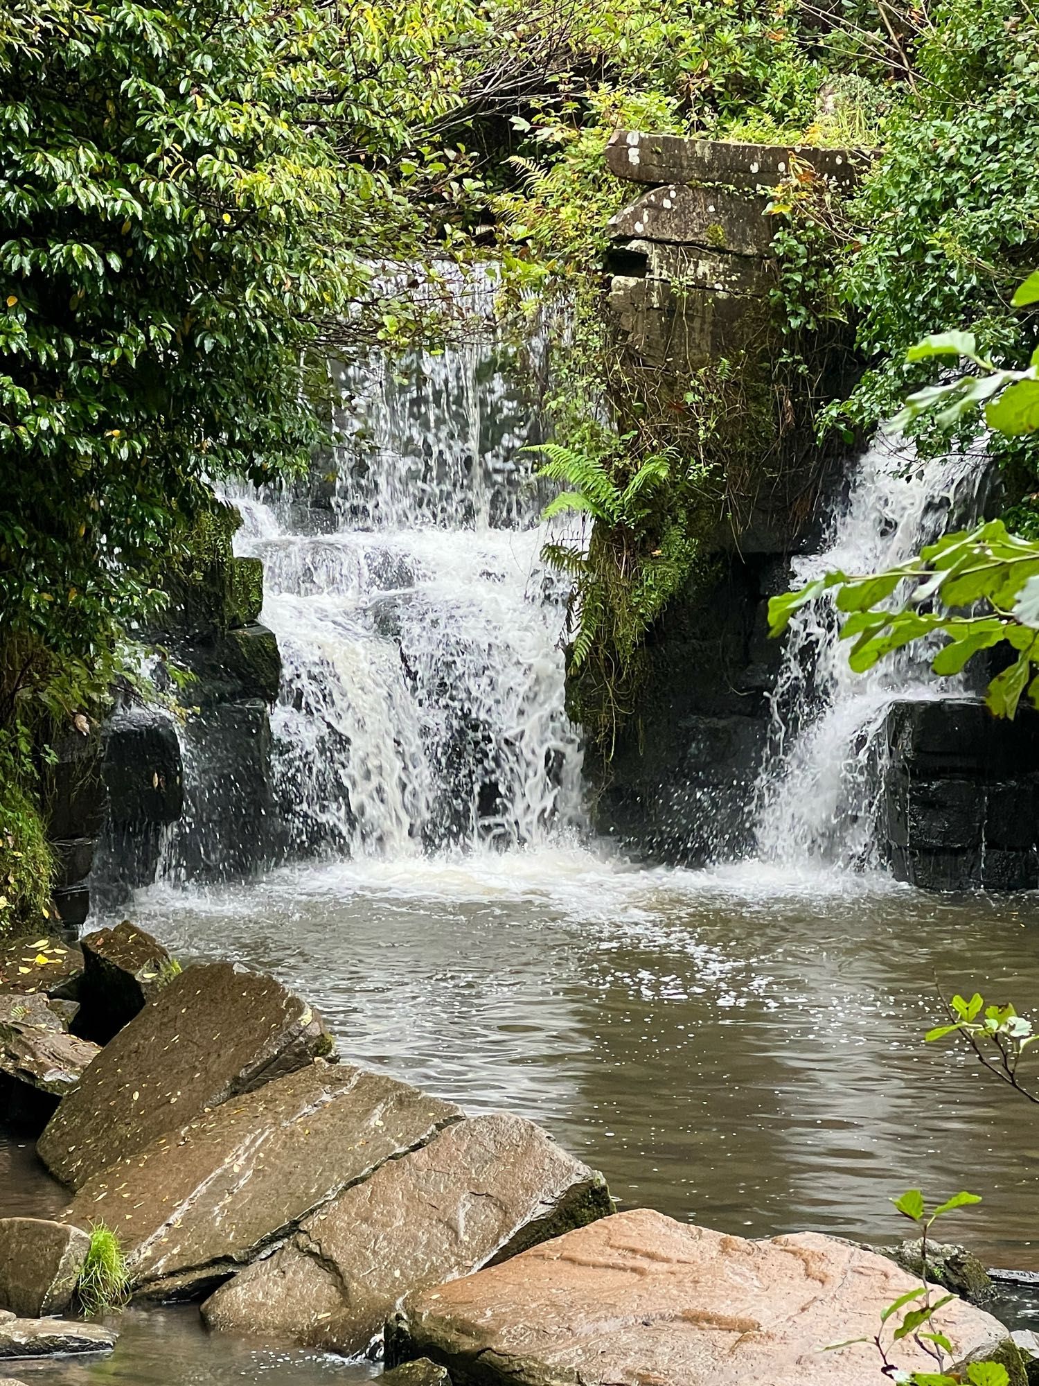
[[791, 154], [810, 164], [835, 187], [853, 187], [869, 166], [862, 150], [822, 150], [813, 144], [740, 144], [691, 140], [680, 134], [618, 130], [607, 146], [607, 166], [630, 183], [722, 183], [726, 187], [774, 187], [790, 175]]

